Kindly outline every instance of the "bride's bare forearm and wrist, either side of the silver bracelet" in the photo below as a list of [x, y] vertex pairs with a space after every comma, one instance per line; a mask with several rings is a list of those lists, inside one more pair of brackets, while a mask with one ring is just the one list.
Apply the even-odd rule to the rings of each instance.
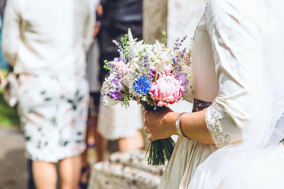
[[[183, 117], [180, 119], [180, 130], [185, 137], [203, 142], [205, 144], [214, 144], [206, 126], [205, 113], [206, 109], [183, 115]], [[177, 112], [170, 112], [165, 117], [165, 124], [171, 127], [171, 130], [175, 135], [178, 135], [178, 132], [175, 128], [175, 121], [179, 114], [180, 113]]]

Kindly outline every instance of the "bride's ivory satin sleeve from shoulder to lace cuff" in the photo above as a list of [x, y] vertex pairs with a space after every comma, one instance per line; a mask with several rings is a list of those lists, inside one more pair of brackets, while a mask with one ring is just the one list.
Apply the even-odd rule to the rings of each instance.
[[225, 0], [208, 3], [206, 26], [219, 92], [207, 109], [206, 123], [218, 148], [242, 140], [242, 129], [259, 106], [262, 34], [254, 19], [258, 15], [249, 14]]

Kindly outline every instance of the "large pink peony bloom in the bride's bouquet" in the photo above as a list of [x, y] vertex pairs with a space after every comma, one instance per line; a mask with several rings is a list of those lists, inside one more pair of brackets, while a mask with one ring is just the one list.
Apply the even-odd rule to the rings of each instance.
[[152, 84], [150, 88], [151, 98], [159, 101], [157, 106], [168, 106], [181, 99], [184, 87], [182, 81], [175, 78], [173, 74], [161, 74], [159, 78]]

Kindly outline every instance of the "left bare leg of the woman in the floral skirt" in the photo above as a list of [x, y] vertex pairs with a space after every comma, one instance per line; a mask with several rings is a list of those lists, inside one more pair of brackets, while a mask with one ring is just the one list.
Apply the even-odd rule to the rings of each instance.
[[38, 189], [56, 189], [57, 172], [54, 163], [32, 162], [33, 178]]

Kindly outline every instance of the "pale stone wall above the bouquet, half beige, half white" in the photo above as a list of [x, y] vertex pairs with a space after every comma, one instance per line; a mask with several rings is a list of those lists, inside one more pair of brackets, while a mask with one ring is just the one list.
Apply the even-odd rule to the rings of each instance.
[[143, 0], [143, 39], [153, 44], [161, 41], [162, 31], [167, 30], [168, 46], [173, 46], [175, 39], [190, 38], [205, 9], [208, 0]]

